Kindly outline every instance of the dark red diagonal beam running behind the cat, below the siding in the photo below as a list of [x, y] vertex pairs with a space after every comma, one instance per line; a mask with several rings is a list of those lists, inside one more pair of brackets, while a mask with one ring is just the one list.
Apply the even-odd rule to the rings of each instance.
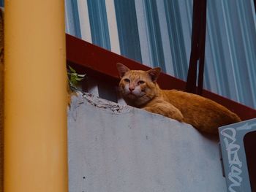
[[[72, 37], [69, 34], [66, 35], [66, 41], [68, 64], [75, 65], [80, 72], [102, 77], [102, 80], [111, 81], [116, 85], [118, 85], [119, 79], [116, 69], [116, 63], [118, 62], [125, 64], [130, 69], [150, 69], [148, 66], [144, 66], [129, 58], [105, 50], [102, 47]], [[184, 91], [186, 86], [186, 82], [183, 80], [178, 80], [176, 77], [172, 77], [165, 73], [161, 73], [157, 82], [159, 83], [159, 86], [164, 89], [178, 89]], [[232, 101], [206, 90], [203, 90], [203, 96], [217, 101], [229, 110], [236, 112], [242, 120], [256, 118], [256, 110], [246, 107], [243, 104], [239, 104], [236, 101]]]

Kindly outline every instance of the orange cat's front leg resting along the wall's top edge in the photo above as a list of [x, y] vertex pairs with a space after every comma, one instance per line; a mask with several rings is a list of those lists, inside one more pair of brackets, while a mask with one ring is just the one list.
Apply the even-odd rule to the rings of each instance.
[[142, 109], [148, 112], [164, 115], [167, 118], [175, 119], [180, 122], [183, 122], [184, 119], [181, 111], [174, 107], [172, 104], [169, 104], [167, 102], [164, 102], [162, 104], [153, 104], [148, 107], [143, 107]]

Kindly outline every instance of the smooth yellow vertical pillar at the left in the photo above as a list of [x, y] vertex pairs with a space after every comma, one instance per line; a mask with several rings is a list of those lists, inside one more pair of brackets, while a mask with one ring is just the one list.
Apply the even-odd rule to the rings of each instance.
[[4, 191], [67, 191], [64, 0], [6, 0]]

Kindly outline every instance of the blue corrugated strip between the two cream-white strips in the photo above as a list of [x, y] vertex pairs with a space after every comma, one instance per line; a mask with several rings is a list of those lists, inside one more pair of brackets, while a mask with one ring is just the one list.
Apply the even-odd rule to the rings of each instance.
[[87, 0], [87, 4], [92, 43], [111, 50], [105, 0]]

